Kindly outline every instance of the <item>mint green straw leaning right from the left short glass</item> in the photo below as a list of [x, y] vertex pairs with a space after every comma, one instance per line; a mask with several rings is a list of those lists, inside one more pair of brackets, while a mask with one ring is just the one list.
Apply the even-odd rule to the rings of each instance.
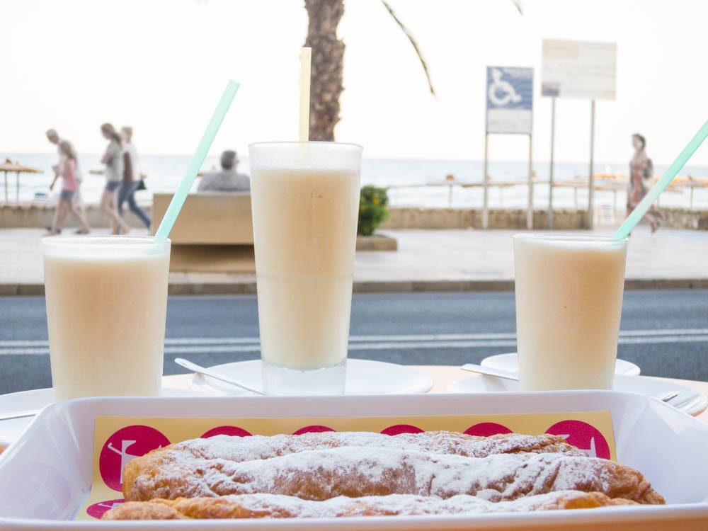
[[165, 212], [160, 226], [157, 227], [157, 232], [155, 233], [155, 239], [157, 241], [167, 239], [167, 236], [169, 236], [172, 230], [172, 226], [177, 221], [179, 211], [182, 210], [182, 205], [184, 205], [187, 199], [189, 190], [192, 188], [195, 178], [197, 178], [197, 172], [202, 167], [202, 164], [204, 164], [204, 159], [207, 157], [209, 148], [212, 146], [212, 142], [214, 142], [214, 137], [217, 135], [219, 127], [221, 127], [224, 121], [224, 116], [226, 116], [229, 105], [231, 105], [231, 102], [234, 100], [239, 86], [240, 85], [233, 79], [230, 79], [229, 83], [227, 83], [219, 105], [217, 105], [212, 119], [209, 121], [209, 125], [207, 125], [207, 130], [205, 130], [204, 135], [202, 135], [197, 151], [194, 152], [192, 160], [189, 162], [189, 166], [187, 166], [187, 171], [182, 178], [182, 182], [175, 195], [172, 196], [172, 200], [170, 201], [169, 207], [167, 207], [167, 212]]

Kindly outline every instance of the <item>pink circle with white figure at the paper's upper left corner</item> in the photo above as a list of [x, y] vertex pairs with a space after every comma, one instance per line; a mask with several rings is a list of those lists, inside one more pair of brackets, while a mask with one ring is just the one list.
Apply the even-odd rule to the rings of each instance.
[[125, 465], [134, 457], [140, 457], [169, 443], [168, 438], [150, 426], [136, 424], [120, 428], [105, 441], [101, 457], [98, 457], [98, 469], [103, 482], [114, 491], [120, 492]]

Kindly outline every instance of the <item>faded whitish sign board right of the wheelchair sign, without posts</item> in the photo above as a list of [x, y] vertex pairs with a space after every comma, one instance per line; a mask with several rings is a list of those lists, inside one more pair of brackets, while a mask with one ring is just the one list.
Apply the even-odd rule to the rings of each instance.
[[617, 44], [544, 39], [541, 96], [614, 100]]

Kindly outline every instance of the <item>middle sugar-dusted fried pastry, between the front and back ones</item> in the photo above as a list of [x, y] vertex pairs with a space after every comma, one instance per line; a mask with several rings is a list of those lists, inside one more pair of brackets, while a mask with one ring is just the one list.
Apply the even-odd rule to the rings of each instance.
[[[161, 457], [156, 457], [161, 456]], [[323, 501], [408, 494], [512, 501], [552, 491], [600, 492], [637, 503], [663, 503], [635, 469], [572, 452], [465, 457], [395, 447], [330, 447], [236, 462], [181, 452], [150, 454], [126, 467], [128, 501], [270, 493]]]

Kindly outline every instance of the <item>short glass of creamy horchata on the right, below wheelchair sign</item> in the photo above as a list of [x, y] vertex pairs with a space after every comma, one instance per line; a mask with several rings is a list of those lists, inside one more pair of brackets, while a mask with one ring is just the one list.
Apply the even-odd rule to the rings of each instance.
[[516, 234], [519, 387], [612, 389], [627, 239]]

